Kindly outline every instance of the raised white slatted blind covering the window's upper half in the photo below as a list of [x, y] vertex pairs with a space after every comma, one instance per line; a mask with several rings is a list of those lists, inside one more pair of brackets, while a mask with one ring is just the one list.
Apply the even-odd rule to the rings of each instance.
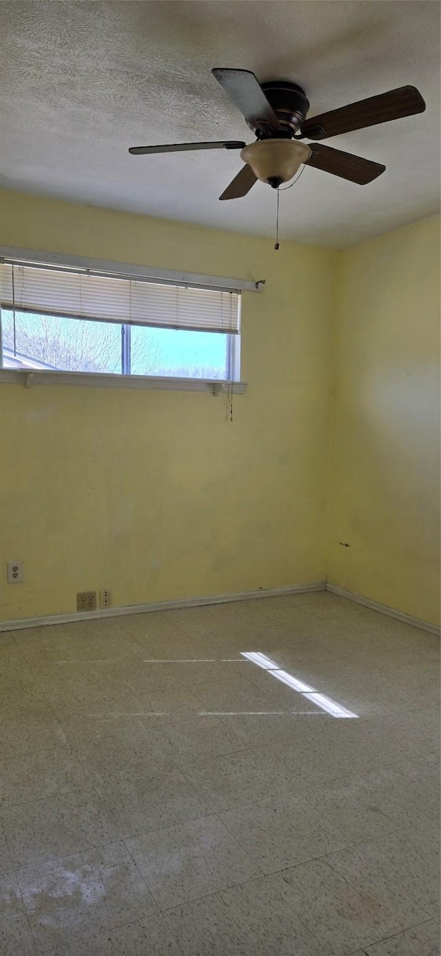
[[45, 315], [195, 332], [239, 332], [237, 292], [87, 271], [0, 264], [0, 303]]

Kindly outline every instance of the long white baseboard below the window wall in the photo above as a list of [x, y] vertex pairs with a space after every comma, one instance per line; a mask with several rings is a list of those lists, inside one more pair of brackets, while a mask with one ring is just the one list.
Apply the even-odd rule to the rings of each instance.
[[48, 624], [68, 624], [77, 620], [119, 618], [124, 614], [148, 614], [150, 611], [170, 611], [183, 607], [205, 607], [206, 604], [227, 604], [234, 600], [250, 600], [252, 597], [281, 597], [305, 594], [308, 591], [324, 591], [325, 581], [314, 584], [294, 584], [283, 588], [261, 588], [258, 591], [239, 591], [210, 597], [183, 597], [180, 600], [163, 600], [154, 604], [131, 604], [127, 607], [106, 607], [98, 611], [81, 611], [72, 614], [51, 614], [41, 618], [20, 618], [0, 621], [1, 631], [18, 631], [25, 627], [47, 627]]

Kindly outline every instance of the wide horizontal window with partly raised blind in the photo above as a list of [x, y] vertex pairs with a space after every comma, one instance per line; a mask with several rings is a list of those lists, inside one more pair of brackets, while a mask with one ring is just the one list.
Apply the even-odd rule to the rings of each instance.
[[240, 293], [0, 264], [9, 369], [236, 380]]

